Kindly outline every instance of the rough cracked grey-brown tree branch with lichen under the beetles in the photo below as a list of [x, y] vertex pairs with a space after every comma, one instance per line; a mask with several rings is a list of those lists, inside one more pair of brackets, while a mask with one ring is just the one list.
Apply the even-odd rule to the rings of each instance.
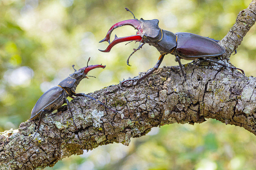
[[[226, 47], [225, 58], [229, 58], [254, 24], [255, 2], [240, 11], [236, 23], [220, 41]], [[61, 115], [44, 116], [39, 133], [29, 145], [26, 143], [35, 133], [38, 120], [28, 120], [17, 130], [3, 132], [0, 169], [54, 166], [64, 157], [82, 154], [83, 150], [99, 145], [113, 142], [128, 145], [132, 137], [143, 136], [152, 127], [175, 122], [194, 124], [212, 118], [256, 134], [256, 78], [197, 60], [184, 68], [187, 78], [196, 83], [189, 96], [180, 68], [163, 67], [140, 85], [112, 85], [90, 93], [117, 113], [87, 98], [72, 100], [78, 131], [69, 111], [62, 107]]]

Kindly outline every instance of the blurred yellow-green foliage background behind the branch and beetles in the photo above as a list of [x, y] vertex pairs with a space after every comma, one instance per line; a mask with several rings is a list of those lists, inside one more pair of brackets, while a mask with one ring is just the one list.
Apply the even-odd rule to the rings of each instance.
[[[73, 72], [71, 67], [106, 64], [93, 70], [77, 92], [93, 92], [153, 67], [159, 56], [143, 46], [130, 59], [137, 44], [116, 45], [102, 53], [107, 43], [98, 43], [114, 23], [137, 18], [160, 20], [165, 30], [191, 32], [221, 39], [250, 0], [0, 0], [0, 131], [17, 129], [30, 117], [43, 92]], [[244, 37], [231, 62], [256, 76], [255, 26]], [[118, 37], [135, 34], [130, 26], [118, 28]], [[170, 57], [170, 58], [169, 58]], [[188, 61], [183, 61], [187, 63]], [[141, 65], [143, 63], [143, 65]], [[172, 55], [162, 65], [177, 65]], [[59, 161], [53, 169], [255, 169], [255, 136], [240, 127], [215, 120], [202, 124], [165, 125], [130, 146], [100, 146], [82, 156]], [[50, 168], [45, 168], [50, 169]], [[52, 168], [51, 168], [52, 169]]]

